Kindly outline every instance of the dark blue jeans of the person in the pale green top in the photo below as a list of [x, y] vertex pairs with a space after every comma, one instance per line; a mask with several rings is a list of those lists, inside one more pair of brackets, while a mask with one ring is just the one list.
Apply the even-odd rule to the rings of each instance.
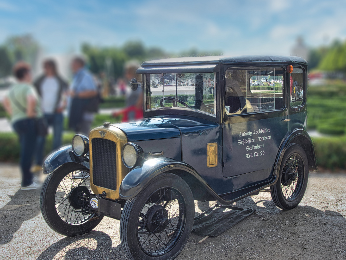
[[23, 119], [15, 122], [13, 128], [18, 133], [20, 144], [20, 168], [22, 172], [22, 187], [33, 183], [33, 174], [30, 172], [36, 143], [35, 119]]

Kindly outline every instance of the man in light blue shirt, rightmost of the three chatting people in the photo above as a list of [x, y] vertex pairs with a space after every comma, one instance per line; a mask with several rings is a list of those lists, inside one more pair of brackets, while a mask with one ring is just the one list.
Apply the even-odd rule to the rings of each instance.
[[88, 136], [98, 109], [98, 89], [81, 57], [72, 60], [71, 69], [74, 76], [70, 87], [69, 127]]

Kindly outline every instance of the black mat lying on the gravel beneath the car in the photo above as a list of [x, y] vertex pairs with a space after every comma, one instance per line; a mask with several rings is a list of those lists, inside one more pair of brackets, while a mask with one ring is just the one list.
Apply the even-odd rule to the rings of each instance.
[[216, 204], [194, 218], [192, 232], [198, 236], [216, 237], [255, 211], [255, 209], [241, 209]]

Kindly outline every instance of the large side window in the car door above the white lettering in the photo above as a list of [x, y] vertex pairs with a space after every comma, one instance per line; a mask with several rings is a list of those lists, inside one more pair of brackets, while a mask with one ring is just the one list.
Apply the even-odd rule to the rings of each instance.
[[227, 115], [282, 109], [282, 68], [229, 69], [225, 73]]

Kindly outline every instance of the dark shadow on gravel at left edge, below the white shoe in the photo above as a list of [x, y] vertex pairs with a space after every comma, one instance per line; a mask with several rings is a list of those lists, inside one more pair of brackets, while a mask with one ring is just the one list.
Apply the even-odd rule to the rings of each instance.
[[21, 224], [40, 213], [40, 190], [18, 190], [14, 195], [8, 195], [11, 200], [0, 208], [0, 244], [6, 244], [13, 239], [13, 234]]

